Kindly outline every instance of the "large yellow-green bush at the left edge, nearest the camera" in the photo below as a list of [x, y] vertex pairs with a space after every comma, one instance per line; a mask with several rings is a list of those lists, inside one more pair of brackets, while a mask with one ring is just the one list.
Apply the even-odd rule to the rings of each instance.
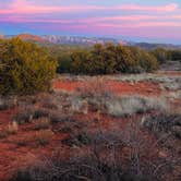
[[57, 62], [44, 48], [19, 38], [0, 41], [0, 94], [48, 90]]

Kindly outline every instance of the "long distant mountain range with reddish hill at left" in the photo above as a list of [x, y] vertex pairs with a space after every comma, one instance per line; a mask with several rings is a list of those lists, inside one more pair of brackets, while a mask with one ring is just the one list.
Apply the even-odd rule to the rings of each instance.
[[60, 36], [60, 35], [31, 35], [31, 34], [20, 34], [20, 35], [0, 35], [0, 38], [12, 38], [19, 37], [23, 40], [34, 41], [40, 45], [79, 45], [79, 46], [93, 46], [95, 44], [121, 44], [124, 46], [136, 46], [143, 49], [152, 50], [157, 47], [166, 48], [166, 49], [178, 49], [180, 46], [172, 44], [149, 44], [149, 43], [134, 43], [126, 41], [122, 39], [116, 38], [97, 38], [97, 37], [80, 37], [80, 36]]

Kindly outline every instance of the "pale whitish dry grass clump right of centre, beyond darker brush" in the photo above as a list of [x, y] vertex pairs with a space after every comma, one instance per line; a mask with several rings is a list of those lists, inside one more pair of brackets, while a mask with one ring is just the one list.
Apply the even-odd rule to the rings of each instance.
[[107, 113], [114, 117], [132, 116], [148, 111], [166, 111], [168, 104], [165, 99], [144, 96], [112, 97], [105, 102]]

